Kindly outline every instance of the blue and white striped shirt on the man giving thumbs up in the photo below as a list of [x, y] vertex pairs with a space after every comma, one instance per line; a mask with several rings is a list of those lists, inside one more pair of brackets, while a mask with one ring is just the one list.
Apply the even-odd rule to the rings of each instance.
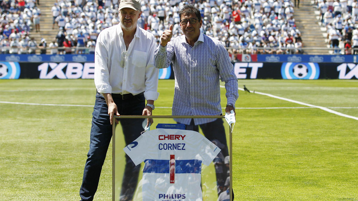
[[[229, 54], [222, 43], [203, 33], [190, 46], [185, 35], [172, 38], [154, 51], [154, 66], [168, 68], [173, 63], [175, 90], [172, 115], [221, 115], [220, 82], [225, 82], [227, 104], [238, 98], [237, 78]], [[190, 119], [175, 119], [190, 124]], [[215, 119], [194, 119], [195, 125]]]

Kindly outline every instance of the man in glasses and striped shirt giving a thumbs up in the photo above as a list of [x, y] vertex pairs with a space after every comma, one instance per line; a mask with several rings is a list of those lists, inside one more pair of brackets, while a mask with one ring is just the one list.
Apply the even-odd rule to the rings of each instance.
[[[203, 24], [200, 11], [193, 5], [184, 5], [179, 11], [180, 28], [184, 35], [171, 38], [173, 25], [166, 29], [160, 45], [154, 52], [156, 68], [173, 65], [175, 90], [173, 115], [221, 115], [220, 82], [225, 82], [227, 104], [225, 112], [235, 111], [238, 98], [237, 78], [222, 43], [200, 32]], [[202, 129], [210, 141], [218, 140], [221, 153], [228, 156], [222, 119], [175, 119], [186, 125], [187, 130]], [[220, 148], [220, 147], [219, 147]], [[226, 171], [217, 172], [218, 185], [225, 182]]]

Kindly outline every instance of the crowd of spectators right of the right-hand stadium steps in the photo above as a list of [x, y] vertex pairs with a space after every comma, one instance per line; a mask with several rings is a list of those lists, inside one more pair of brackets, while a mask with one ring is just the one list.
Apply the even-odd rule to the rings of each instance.
[[358, 48], [358, 0], [315, 0], [315, 6], [327, 30], [326, 42], [334, 53], [352, 54], [352, 48]]

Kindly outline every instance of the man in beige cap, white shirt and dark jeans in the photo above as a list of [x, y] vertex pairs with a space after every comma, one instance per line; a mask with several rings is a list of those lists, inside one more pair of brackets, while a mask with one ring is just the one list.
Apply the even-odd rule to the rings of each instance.
[[[96, 102], [93, 108], [88, 158], [80, 189], [82, 200], [93, 200], [101, 169], [112, 137], [114, 115], [148, 115], [159, 96], [158, 74], [153, 64], [155, 38], [139, 28], [141, 16], [138, 0], [121, 0], [118, 6], [120, 23], [98, 35], [95, 48]], [[145, 99], [147, 104], [145, 104]], [[143, 119], [119, 119], [129, 144], [144, 131]], [[147, 125], [149, 120], [147, 120]], [[121, 201], [133, 199], [140, 166], [126, 155]]]

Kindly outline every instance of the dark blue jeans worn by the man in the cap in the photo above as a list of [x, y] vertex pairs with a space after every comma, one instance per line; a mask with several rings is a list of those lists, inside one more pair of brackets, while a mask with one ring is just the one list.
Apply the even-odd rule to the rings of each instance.
[[[121, 115], [142, 115], [145, 108], [145, 98], [139, 95], [122, 99], [120, 94], [112, 94]], [[108, 115], [108, 106], [105, 98], [97, 93], [95, 107], [92, 113], [92, 127], [87, 154], [86, 165], [83, 171], [82, 186], [79, 195], [82, 200], [92, 201], [97, 191], [101, 170], [106, 158], [108, 146], [112, 138], [112, 125]], [[119, 119], [126, 144], [133, 142], [144, 131], [142, 122], [145, 119]], [[114, 122], [114, 121], [113, 121]], [[132, 200], [138, 182], [140, 165], [135, 166], [132, 160], [126, 156], [125, 175], [122, 182], [121, 201]]]

